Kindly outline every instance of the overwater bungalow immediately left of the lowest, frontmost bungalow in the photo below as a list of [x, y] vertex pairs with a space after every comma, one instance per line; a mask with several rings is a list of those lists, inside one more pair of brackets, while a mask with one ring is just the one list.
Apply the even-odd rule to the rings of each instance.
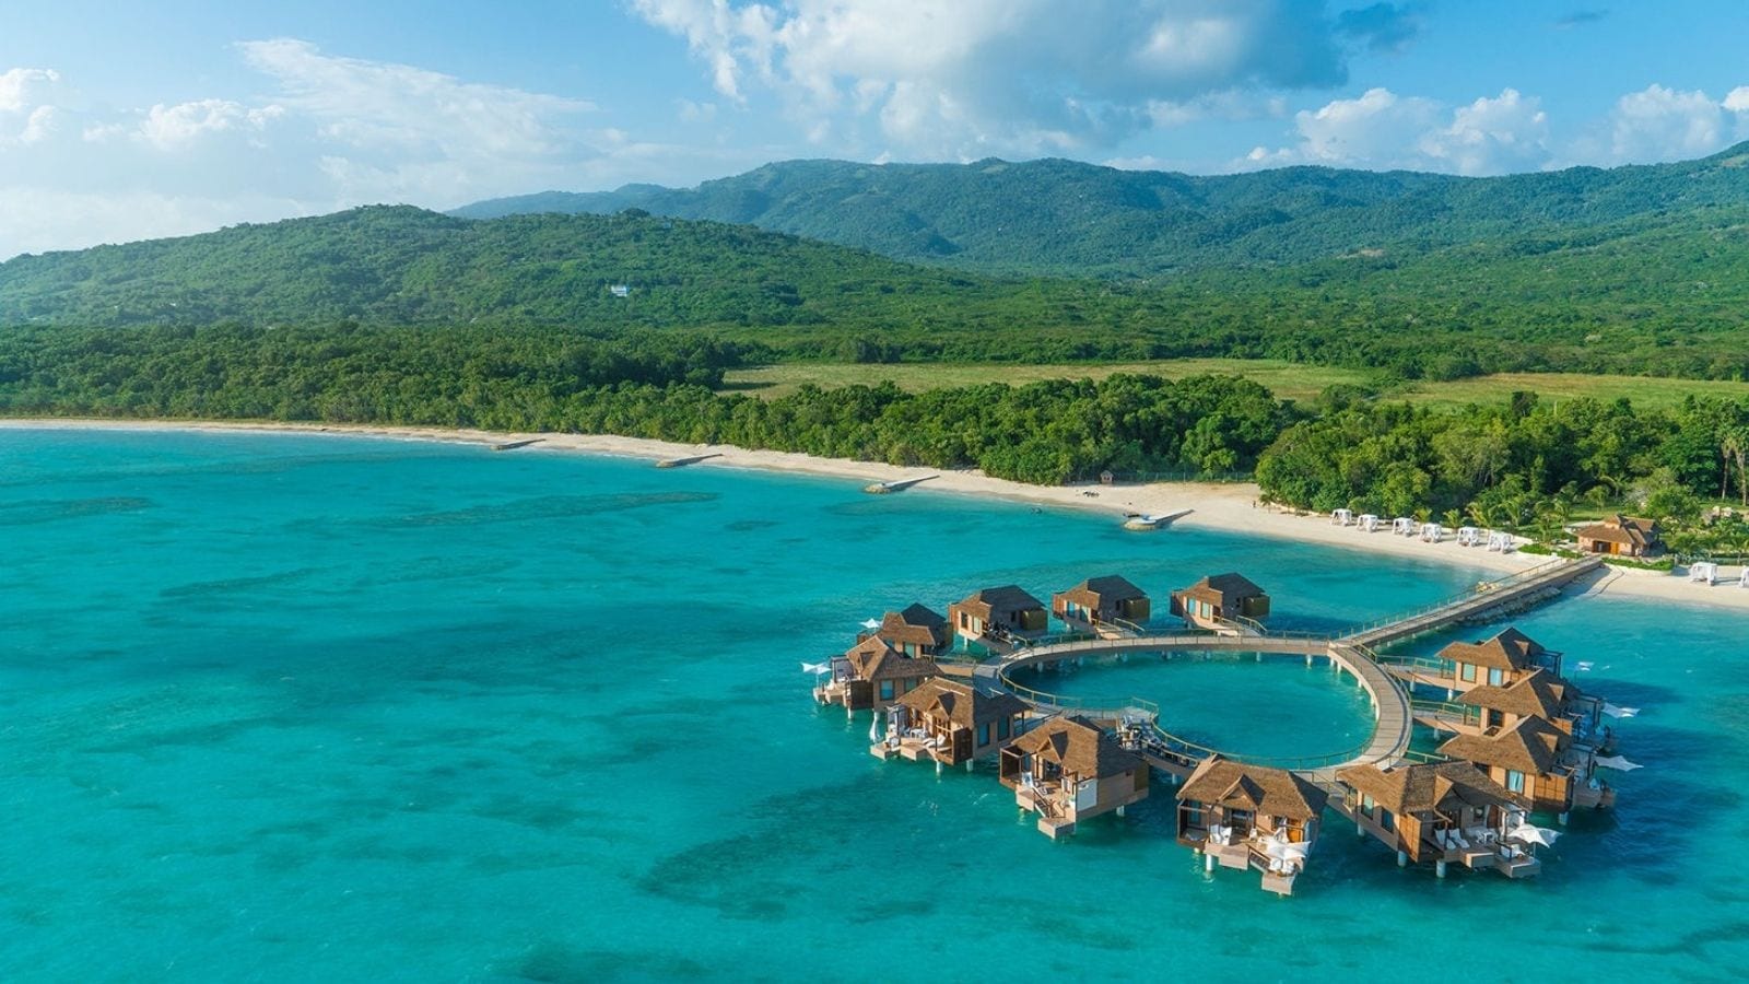
[[1056, 716], [1002, 749], [1002, 784], [1053, 840], [1147, 798], [1147, 763], [1083, 718]]

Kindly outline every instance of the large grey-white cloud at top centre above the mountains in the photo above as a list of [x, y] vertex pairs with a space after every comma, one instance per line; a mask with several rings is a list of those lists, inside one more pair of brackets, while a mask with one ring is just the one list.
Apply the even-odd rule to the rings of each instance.
[[[633, 0], [810, 140], [971, 158], [1111, 145], [1233, 89], [1347, 77], [1310, 0]], [[1216, 103], [1202, 103], [1203, 112]]]

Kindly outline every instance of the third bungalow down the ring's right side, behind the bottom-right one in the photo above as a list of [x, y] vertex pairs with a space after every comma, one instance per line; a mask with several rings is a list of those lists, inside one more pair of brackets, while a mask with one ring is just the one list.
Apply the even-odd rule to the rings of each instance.
[[1606, 809], [1616, 793], [1597, 776], [1597, 753], [1543, 718], [1520, 718], [1495, 734], [1457, 735], [1439, 755], [1471, 762], [1490, 779], [1565, 823], [1572, 807]]

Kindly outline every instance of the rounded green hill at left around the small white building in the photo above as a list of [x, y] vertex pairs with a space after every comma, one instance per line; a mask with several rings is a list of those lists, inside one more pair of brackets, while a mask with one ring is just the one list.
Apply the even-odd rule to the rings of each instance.
[[976, 317], [1006, 291], [749, 226], [367, 207], [23, 256], [0, 264], [0, 324], [855, 326], [950, 296]]

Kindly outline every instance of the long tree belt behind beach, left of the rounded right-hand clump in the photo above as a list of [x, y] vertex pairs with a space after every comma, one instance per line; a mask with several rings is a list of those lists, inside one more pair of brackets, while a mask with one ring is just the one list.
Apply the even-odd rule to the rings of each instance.
[[1266, 389], [1228, 376], [717, 396], [710, 387], [738, 357], [703, 338], [649, 333], [28, 329], [0, 333], [0, 413], [603, 432], [983, 467], [1041, 483], [1102, 467], [1249, 471], [1293, 420]]

